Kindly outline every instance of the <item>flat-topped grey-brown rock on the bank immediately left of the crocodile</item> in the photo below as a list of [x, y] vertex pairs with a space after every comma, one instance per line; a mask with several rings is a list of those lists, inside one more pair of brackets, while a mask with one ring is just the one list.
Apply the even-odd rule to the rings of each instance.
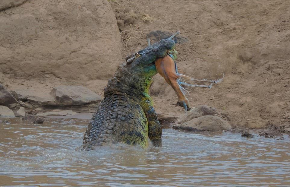
[[59, 105], [83, 105], [102, 100], [101, 96], [82, 86], [54, 87], [50, 95], [55, 98], [55, 103]]

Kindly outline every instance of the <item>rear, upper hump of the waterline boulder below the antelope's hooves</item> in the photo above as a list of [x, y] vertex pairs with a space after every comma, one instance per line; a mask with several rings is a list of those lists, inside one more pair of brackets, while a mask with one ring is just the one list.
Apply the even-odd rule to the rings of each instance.
[[178, 123], [185, 123], [191, 119], [207, 115], [222, 117], [222, 115], [217, 112], [216, 108], [207, 105], [199, 105], [182, 116]]

